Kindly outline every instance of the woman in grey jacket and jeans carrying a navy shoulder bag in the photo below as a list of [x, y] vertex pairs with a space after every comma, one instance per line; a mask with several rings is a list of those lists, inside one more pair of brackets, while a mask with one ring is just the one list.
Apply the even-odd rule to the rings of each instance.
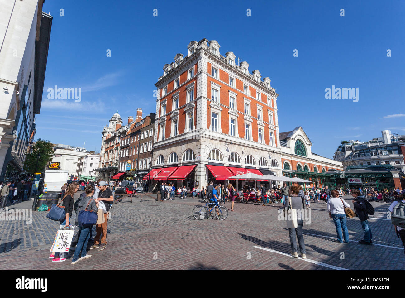
[[[94, 199], [92, 196], [94, 194], [94, 187], [88, 184], [85, 187], [86, 197], [81, 199], [78, 203], [78, 212], [76, 216], [76, 221], [79, 223], [80, 237], [77, 241], [75, 254], [72, 258], [72, 264], [76, 264], [82, 259], [87, 259], [92, 255], [87, 254], [87, 242], [90, 239], [90, 230], [93, 228], [93, 225], [83, 224], [83, 219], [81, 218], [83, 212], [98, 212], [98, 200]], [[80, 217], [80, 218], [79, 218]], [[83, 216], [83, 218], [88, 219], [88, 217]], [[96, 223], [96, 220], [93, 222]]]

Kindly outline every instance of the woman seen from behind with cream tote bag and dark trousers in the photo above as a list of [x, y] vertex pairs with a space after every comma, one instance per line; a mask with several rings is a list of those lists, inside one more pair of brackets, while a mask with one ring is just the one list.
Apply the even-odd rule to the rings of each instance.
[[288, 233], [290, 234], [291, 255], [295, 258], [298, 257], [295, 239], [298, 238], [301, 257], [306, 259], [303, 237], [303, 204], [301, 197], [298, 197], [299, 191], [297, 186], [290, 187], [290, 195], [284, 202], [284, 219], [287, 221]]

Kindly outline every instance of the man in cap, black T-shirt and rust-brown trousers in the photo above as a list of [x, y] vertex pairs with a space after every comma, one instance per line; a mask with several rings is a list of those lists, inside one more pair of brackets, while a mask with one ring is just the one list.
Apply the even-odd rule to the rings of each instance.
[[97, 186], [100, 189], [98, 193], [98, 201], [104, 202], [107, 213], [104, 214], [104, 223], [96, 225], [96, 237], [94, 237], [94, 244], [90, 249], [98, 248], [98, 251], [102, 251], [107, 247], [107, 221], [110, 217], [110, 203], [114, 201], [114, 195], [111, 189], [107, 188], [105, 181], [98, 182]]

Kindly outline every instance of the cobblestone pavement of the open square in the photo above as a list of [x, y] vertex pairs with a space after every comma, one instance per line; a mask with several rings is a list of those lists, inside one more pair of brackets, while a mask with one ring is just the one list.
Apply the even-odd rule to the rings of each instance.
[[[78, 197], [79, 194], [76, 194]], [[0, 221], [0, 269], [277, 269], [277, 270], [404, 270], [404, 250], [396, 237], [387, 211], [389, 204], [372, 203], [369, 219], [373, 245], [358, 244], [363, 232], [358, 218], [348, 219], [348, 244], [334, 242], [336, 230], [324, 202], [311, 203], [311, 223], [303, 232], [307, 261], [290, 256], [291, 247], [284, 221], [278, 221], [281, 204], [266, 206], [235, 204], [224, 221], [192, 217], [198, 199], [157, 202], [143, 195], [115, 203], [107, 229], [107, 248], [92, 249], [91, 258], [71, 265], [52, 263], [49, 250], [58, 223], [47, 212], [32, 212], [32, 223]], [[352, 197], [345, 197], [353, 205]], [[32, 201], [9, 210], [31, 209]], [[225, 206], [230, 210], [230, 203]], [[73, 214], [72, 217], [76, 215]], [[95, 235], [93, 230], [93, 236]]]

